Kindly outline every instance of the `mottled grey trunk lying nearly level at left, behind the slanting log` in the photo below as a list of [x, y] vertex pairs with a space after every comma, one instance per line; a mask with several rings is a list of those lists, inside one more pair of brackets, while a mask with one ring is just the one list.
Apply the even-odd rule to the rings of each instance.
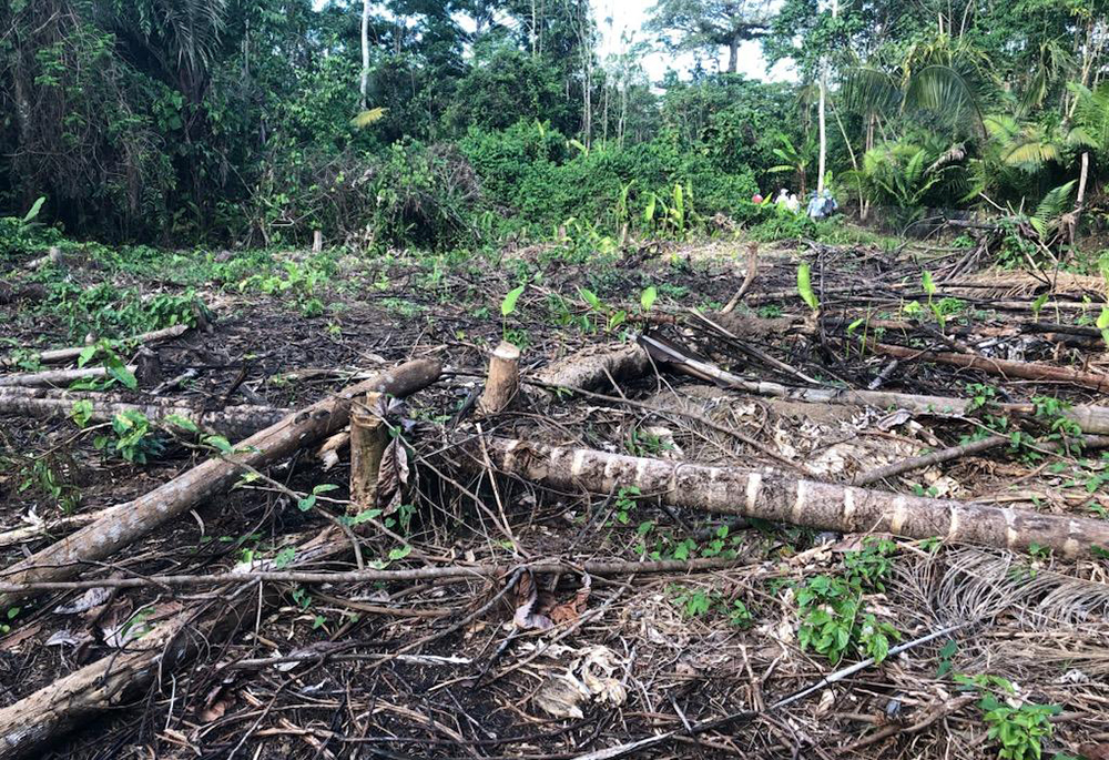
[[142, 404], [129, 404], [116, 397], [99, 394], [74, 394], [45, 388], [0, 388], [0, 414], [33, 417], [69, 417], [73, 405], [88, 401], [85, 407], [91, 422], [111, 422], [115, 415], [138, 412], [153, 423], [163, 424], [166, 417], [180, 416], [191, 420], [205, 433], [217, 433], [228, 438], [245, 438], [258, 430], [276, 425], [287, 417], [289, 409], [271, 406], [228, 406], [217, 412], [204, 412], [172, 401], [155, 399]]

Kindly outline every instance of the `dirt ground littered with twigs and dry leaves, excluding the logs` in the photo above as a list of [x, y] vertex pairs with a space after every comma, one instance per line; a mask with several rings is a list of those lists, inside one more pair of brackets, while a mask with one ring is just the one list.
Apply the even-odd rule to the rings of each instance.
[[[920, 351], [948, 351], [957, 340], [996, 358], [1103, 372], [1105, 345], [1087, 340], [1097, 314], [1082, 305], [1086, 284], [1057, 298], [1069, 298], [1058, 318], [1046, 308], [1035, 315], [1078, 328], [1078, 343], [1068, 345], [1029, 332], [1030, 307], [995, 307], [1034, 303], [1038, 285], [1027, 277], [945, 278], [950, 260], [922, 264], [873, 246], [783, 243], [763, 247], [741, 305], [715, 317], [733, 336], [724, 340], [691, 310], [714, 315], [740, 287], [750, 261], [741, 244], [660, 244], [612, 261], [557, 246], [469, 261], [248, 255], [182, 252], [154, 266], [98, 250], [40, 271], [10, 262], [4, 277], [24, 295], [0, 305], [8, 357], [22, 362], [7, 372], [33, 365], [20, 349], [80, 345], [98, 326], [96, 337], [112, 338], [164, 326], [150, 322], [154, 311], [128, 311], [159, 296], [195, 300], [206, 314], [150, 346], [155, 356], [146, 362], [156, 372], [138, 388], [92, 393], [145, 403], [159, 388], [157, 397], [197, 412], [244, 404], [292, 411], [359, 373], [434, 357], [445, 366], [440, 382], [389, 412], [406, 460], [394, 467], [404, 477], [395, 509], [381, 515], [389, 533], [359, 530], [360, 553], [389, 569], [498, 565], [505, 572], [274, 584], [250, 625], [203, 642], [185, 667], [166, 668], [142, 695], [85, 717], [39, 757], [600, 760], [615, 757], [606, 748], [667, 734], [629, 757], [994, 758], [999, 744], [990, 731], [1005, 722], [1001, 708], [1025, 717], [1038, 715], [1028, 709], [1036, 706], [1058, 706], [1034, 720], [1045, 757], [1109, 757], [1103, 557], [736, 523], [625, 488], [562, 493], [492, 478], [467, 469], [458, 453], [460, 439], [499, 435], [846, 484], [984, 429], [1019, 429], [1027, 435], [1020, 446], [872, 487], [1106, 517], [1109, 470], [1100, 450], [1074, 448], [1078, 434], [1058, 412], [1101, 404], [1105, 394], [1071, 384], [925, 361], [888, 371], [883, 391], [983, 398], [975, 414], [953, 417], [753, 395], [659, 367], [592, 396], [531, 386], [508, 413], [481, 419], [470, 409], [488, 351], [505, 337], [521, 345], [526, 379], [583, 346], [650, 332], [744, 379], [866, 388], [891, 363], [867, 349], [871, 323], [908, 315], [913, 326], [882, 327], [881, 340]], [[811, 266], [818, 316], [797, 294], [801, 263]], [[942, 292], [922, 290], [924, 270]], [[521, 282], [528, 287], [502, 314], [505, 294]], [[139, 316], [94, 323], [81, 298], [98, 286], [111, 288], [103, 303], [90, 301], [98, 314]], [[942, 298], [950, 302], [940, 322], [933, 306]], [[128, 364], [136, 352], [119, 348]], [[995, 403], [1030, 399], [1040, 401], [1027, 418], [994, 411]], [[101, 436], [109, 440], [98, 448]], [[189, 435], [154, 430], [140, 442], [145, 463], [129, 462], [118, 436], [111, 423], [81, 428], [68, 416], [0, 415], [0, 534], [44, 531], [0, 539], [0, 565], [62, 538], [69, 529], [61, 518], [124, 504], [213, 455]], [[271, 467], [269, 480], [196, 505], [79, 577], [251, 567], [323, 531], [332, 525], [327, 509], [345, 510], [349, 465], [344, 452], [325, 468], [315, 450]], [[302, 509], [303, 497], [325, 484], [336, 488]], [[309, 569], [353, 569], [352, 554]], [[590, 560], [640, 559], [716, 566], [608, 576], [581, 569]], [[577, 569], [510, 575], [541, 560]], [[517, 582], [506, 588], [509, 577]], [[830, 655], [810, 640], [824, 602], [805, 600], [838, 581], [856, 584], [857, 619], [843, 629], [843, 651]], [[150, 586], [13, 605], [0, 626], [0, 709], [83, 666], [141, 650], [160, 621], [191, 615], [199, 630], [201, 620], [232, 615], [233, 604], [226, 591]], [[881, 649], [876, 631], [886, 648], [942, 635], [820, 686]], [[1001, 709], [993, 719], [983, 706], [990, 695]], [[1038, 757], [1027, 751], [1015, 757]]]

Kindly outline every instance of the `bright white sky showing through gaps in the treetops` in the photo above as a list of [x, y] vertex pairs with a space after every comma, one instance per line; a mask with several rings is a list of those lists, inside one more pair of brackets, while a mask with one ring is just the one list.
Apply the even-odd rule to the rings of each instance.
[[[326, 0], [314, 0], [317, 10], [323, 8], [325, 2]], [[643, 31], [643, 23], [647, 21], [647, 11], [654, 6], [654, 2], [655, 0], [592, 0], [597, 27], [601, 32], [601, 59], [609, 53], [620, 52], [620, 36], [624, 32], [633, 32], [633, 39], [637, 41], [649, 39]], [[721, 49], [716, 60], [718, 68], [723, 69], [728, 65], [726, 57], [728, 51]], [[695, 60], [690, 54], [673, 55], [665, 50], [655, 50], [644, 55], [642, 63], [653, 83], [661, 80], [668, 69], [676, 69], [679, 74], [684, 77]], [[712, 70], [711, 61], [706, 61], [705, 65]], [[762, 45], [759, 42], [745, 42], [740, 48], [739, 70], [752, 79], [774, 82], [796, 79], [793, 67], [787, 63], [779, 63], [767, 73], [766, 61], [763, 59]]]

